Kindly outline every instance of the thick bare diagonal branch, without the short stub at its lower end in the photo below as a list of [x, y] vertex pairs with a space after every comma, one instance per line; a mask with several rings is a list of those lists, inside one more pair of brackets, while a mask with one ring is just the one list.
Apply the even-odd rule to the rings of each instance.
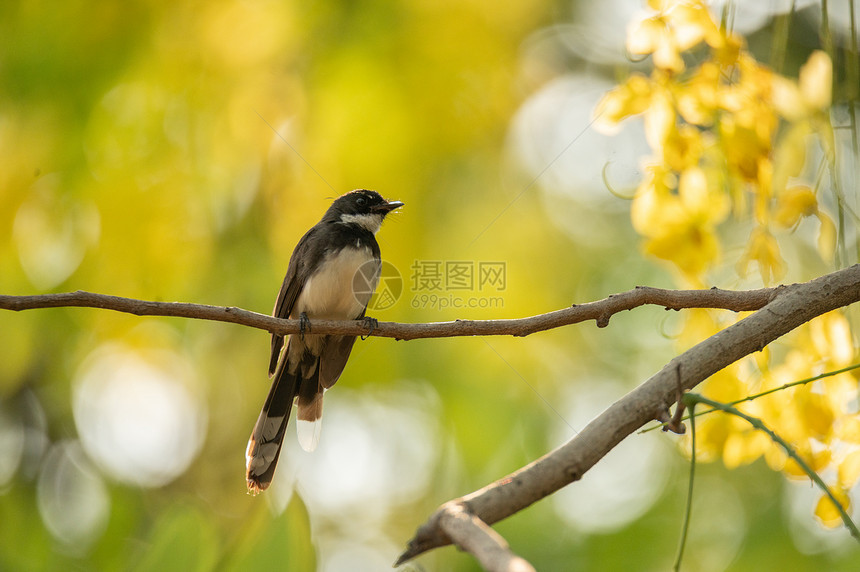
[[579, 480], [625, 437], [649, 421], [664, 417], [679, 390], [692, 389], [821, 314], [860, 301], [860, 265], [782, 287], [774, 294], [761, 310], [674, 358], [564, 445], [478, 491], [442, 505], [418, 528], [398, 564], [451, 543], [442, 520], [452, 504], [463, 506], [487, 524], [519, 512]]

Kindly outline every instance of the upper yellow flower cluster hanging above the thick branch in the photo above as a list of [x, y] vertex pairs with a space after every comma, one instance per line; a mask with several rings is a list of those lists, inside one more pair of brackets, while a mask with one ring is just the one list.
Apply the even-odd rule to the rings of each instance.
[[[749, 217], [754, 227], [737, 268], [743, 275], [755, 262], [770, 284], [785, 273], [774, 230], [815, 216], [819, 249], [829, 258], [835, 226], [815, 192], [790, 179], [805, 163], [810, 134], [818, 134], [833, 157], [830, 58], [813, 53], [793, 81], [758, 63], [702, 1], [649, 5], [657, 14], [630, 30], [627, 47], [651, 55], [653, 72], [632, 75], [595, 109], [596, 125], [606, 131], [629, 116], [644, 117], [653, 157], [633, 199], [632, 219], [646, 253], [671, 262], [687, 284], [701, 286], [720, 258], [718, 225], [729, 214]], [[683, 53], [701, 44], [707, 57], [687, 69]]]

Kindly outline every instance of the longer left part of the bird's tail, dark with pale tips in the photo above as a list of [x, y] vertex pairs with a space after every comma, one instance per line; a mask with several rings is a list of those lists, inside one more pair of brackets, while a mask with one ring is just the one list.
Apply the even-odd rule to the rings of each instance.
[[272, 388], [257, 418], [245, 451], [248, 491], [257, 494], [272, 483], [275, 466], [281, 454], [290, 409], [299, 391], [300, 376], [287, 372], [287, 359], [281, 360], [272, 380]]

